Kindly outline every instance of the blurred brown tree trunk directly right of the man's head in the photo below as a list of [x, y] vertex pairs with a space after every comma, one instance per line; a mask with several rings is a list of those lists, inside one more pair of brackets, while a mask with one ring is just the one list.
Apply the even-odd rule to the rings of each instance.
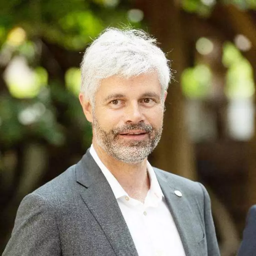
[[168, 89], [161, 141], [153, 152], [151, 162], [158, 168], [195, 179], [193, 149], [188, 139], [184, 120], [184, 99], [180, 75], [185, 68], [182, 19], [175, 1], [138, 0], [137, 7], [144, 11], [149, 32], [169, 53], [174, 79]]

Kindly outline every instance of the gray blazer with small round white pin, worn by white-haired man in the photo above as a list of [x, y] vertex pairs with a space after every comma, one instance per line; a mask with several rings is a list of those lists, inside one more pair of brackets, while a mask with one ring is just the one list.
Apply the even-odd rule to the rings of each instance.
[[[186, 256], [219, 255], [204, 186], [154, 170]], [[22, 200], [3, 252], [48, 255], [138, 256], [111, 187], [88, 150], [81, 161]]]

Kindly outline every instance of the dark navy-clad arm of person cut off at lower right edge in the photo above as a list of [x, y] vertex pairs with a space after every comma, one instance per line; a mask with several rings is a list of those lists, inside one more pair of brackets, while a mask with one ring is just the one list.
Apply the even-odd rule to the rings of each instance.
[[255, 256], [256, 255], [256, 205], [253, 205], [248, 212], [246, 227], [243, 233], [238, 256]]

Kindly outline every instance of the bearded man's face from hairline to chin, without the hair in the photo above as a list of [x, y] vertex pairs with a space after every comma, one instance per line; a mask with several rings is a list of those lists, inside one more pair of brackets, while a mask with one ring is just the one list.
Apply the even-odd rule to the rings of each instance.
[[163, 97], [157, 74], [103, 79], [92, 115], [94, 142], [107, 154], [126, 163], [143, 161], [162, 133]]

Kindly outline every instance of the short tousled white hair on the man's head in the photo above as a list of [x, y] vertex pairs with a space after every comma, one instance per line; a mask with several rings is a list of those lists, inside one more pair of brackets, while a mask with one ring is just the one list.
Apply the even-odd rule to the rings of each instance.
[[81, 93], [94, 102], [100, 80], [121, 75], [127, 78], [158, 73], [162, 91], [170, 82], [170, 68], [156, 39], [138, 29], [107, 28], [86, 49], [81, 63]]

